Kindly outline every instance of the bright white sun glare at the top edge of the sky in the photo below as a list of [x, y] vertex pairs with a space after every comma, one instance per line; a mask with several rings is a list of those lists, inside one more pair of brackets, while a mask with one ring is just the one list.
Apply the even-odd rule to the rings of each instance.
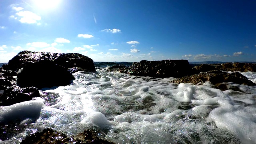
[[61, 0], [33, 0], [34, 4], [38, 8], [52, 9], [56, 8]]

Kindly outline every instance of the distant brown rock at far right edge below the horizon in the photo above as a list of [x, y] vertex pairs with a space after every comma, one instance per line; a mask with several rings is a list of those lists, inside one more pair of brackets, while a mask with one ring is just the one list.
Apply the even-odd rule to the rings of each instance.
[[251, 64], [251, 63], [225, 63], [222, 64], [221, 66], [217, 66], [219, 70], [223, 71], [240, 71], [240, 72], [256, 72], [256, 64]]

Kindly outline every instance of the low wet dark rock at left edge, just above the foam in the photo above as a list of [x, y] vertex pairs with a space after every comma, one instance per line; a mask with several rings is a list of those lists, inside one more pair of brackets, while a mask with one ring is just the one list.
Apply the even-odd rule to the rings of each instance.
[[18, 86], [10, 86], [0, 93], [0, 106], [10, 106], [39, 96], [38, 89], [35, 87], [20, 88]]

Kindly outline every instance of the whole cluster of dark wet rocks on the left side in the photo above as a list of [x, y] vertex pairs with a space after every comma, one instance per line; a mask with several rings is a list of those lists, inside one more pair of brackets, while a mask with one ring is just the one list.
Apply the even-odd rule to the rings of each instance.
[[93, 60], [82, 54], [19, 52], [0, 68], [0, 106], [32, 100], [40, 88], [71, 84], [74, 67], [96, 71]]

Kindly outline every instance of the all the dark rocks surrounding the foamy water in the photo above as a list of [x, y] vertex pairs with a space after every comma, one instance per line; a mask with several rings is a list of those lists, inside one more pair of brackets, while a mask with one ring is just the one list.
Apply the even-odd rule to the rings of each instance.
[[[38, 89], [52, 88], [54, 86], [66, 86], [72, 84], [72, 73], [84, 71], [95, 72], [94, 62], [91, 58], [77, 53], [49, 53], [22, 51], [12, 58], [8, 64], [0, 68], [0, 106], [10, 106], [19, 102], [40, 97]], [[151, 76], [155, 78], [174, 77], [173, 83], [202, 84], [209, 81], [212, 87], [222, 91], [236, 88], [228, 87], [228, 82], [255, 86], [239, 72], [256, 72], [255, 64], [248, 63], [224, 63], [202, 64], [192, 66], [188, 60], [162, 60], [134, 62], [131, 66], [112, 66], [108, 71], [119, 71], [136, 76]], [[224, 71], [231, 71], [228, 73]], [[0, 122], [1, 124], [1, 122]], [[57, 135], [56, 135], [57, 134]], [[53, 137], [61, 138], [53, 139]], [[70, 140], [77, 144], [104, 143], [91, 130], [85, 130], [83, 134], [68, 138], [52, 129], [44, 129], [43, 132], [30, 135], [22, 143], [69, 143]]]

